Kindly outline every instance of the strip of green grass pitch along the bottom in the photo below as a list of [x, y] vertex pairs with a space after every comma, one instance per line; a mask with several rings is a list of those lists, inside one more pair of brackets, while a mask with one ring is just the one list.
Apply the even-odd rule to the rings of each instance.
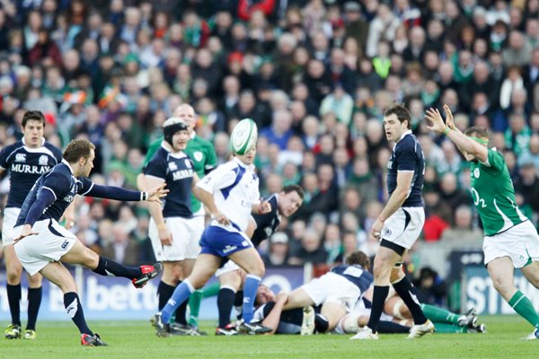
[[155, 337], [149, 322], [91, 321], [107, 347], [83, 347], [71, 321], [40, 322], [38, 338], [0, 339], [0, 358], [169, 359], [169, 358], [534, 358], [539, 341], [523, 341], [532, 330], [519, 317], [485, 317], [488, 334], [435, 334], [417, 340], [384, 335], [378, 341], [349, 340], [351, 336], [216, 337], [212, 323], [202, 328], [208, 337]]

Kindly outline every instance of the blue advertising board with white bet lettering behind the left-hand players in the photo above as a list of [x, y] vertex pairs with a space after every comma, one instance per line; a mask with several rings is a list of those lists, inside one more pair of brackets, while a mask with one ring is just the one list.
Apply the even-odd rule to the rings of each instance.
[[[26, 277], [26, 276], [23, 276]], [[213, 283], [216, 279], [212, 279]], [[278, 293], [303, 285], [303, 267], [273, 267], [266, 269], [262, 284]], [[125, 278], [98, 276], [89, 270], [83, 271], [83, 285], [78, 285], [79, 295], [88, 320], [149, 320], [157, 311], [157, 285], [159, 280], [150, 281], [144, 288], [137, 289]], [[22, 320], [26, 320], [27, 290], [23, 279]], [[218, 317], [216, 297], [205, 299], [200, 307], [200, 320], [216, 320]], [[11, 320], [5, 276], [0, 278], [0, 321]], [[68, 320], [64, 309], [64, 294], [56, 285], [43, 280], [43, 300], [39, 320]]]

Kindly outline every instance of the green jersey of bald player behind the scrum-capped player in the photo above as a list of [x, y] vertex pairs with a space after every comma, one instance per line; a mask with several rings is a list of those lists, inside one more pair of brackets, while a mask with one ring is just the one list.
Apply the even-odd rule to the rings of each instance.
[[[200, 136], [197, 136], [196, 134], [193, 135], [194, 136], [191, 136], [189, 142], [187, 143], [187, 148], [183, 150], [183, 152], [186, 153], [193, 161], [195, 164], [195, 172], [197, 172], [199, 179], [202, 179], [206, 174], [206, 171], [211, 170], [216, 166], [216, 151], [213, 144], [211, 144], [209, 141], [200, 138]], [[152, 142], [152, 144], [150, 144], [144, 160], [144, 167], [146, 167], [148, 162], [150, 162], [152, 157], [154, 157], [155, 152], [157, 149], [159, 149], [162, 142], [163, 136], [160, 136], [154, 142]], [[191, 195], [191, 211], [196, 214], [199, 212], [200, 206], [202, 205], [200, 204], [199, 200]]]

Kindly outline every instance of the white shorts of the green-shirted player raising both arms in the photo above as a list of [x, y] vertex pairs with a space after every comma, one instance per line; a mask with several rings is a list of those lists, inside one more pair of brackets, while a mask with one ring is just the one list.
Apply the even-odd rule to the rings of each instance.
[[511, 258], [513, 267], [522, 268], [539, 261], [539, 235], [530, 221], [518, 223], [483, 240], [485, 265], [501, 257]]

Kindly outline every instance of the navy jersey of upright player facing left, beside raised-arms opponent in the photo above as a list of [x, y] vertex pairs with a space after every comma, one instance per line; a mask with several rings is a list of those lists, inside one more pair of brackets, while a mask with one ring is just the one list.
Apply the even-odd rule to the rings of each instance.
[[387, 163], [387, 191], [391, 196], [397, 188], [398, 172], [413, 172], [409, 196], [406, 198], [403, 207], [423, 206], [421, 189], [423, 188], [423, 175], [425, 174], [425, 160], [423, 159], [423, 150], [417, 138], [406, 131], [402, 134], [399, 142], [393, 147], [393, 153]]

